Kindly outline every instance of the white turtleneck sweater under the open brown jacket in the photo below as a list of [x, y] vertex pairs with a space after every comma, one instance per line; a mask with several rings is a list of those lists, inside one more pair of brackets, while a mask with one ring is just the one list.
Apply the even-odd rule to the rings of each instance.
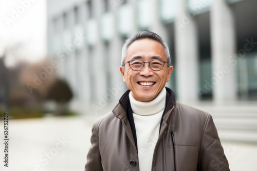
[[131, 92], [129, 96], [137, 134], [139, 170], [150, 171], [159, 137], [160, 120], [165, 108], [166, 88], [150, 102], [137, 101]]

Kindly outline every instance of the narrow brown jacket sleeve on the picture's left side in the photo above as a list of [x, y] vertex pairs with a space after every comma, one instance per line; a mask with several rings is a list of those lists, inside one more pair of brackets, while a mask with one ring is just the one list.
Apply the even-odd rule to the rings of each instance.
[[87, 162], [85, 165], [85, 171], [102, 171], [101, 155], [99, 151], [98, 135], [96, 125], [92, 128], [91, 146], [87, 154]]

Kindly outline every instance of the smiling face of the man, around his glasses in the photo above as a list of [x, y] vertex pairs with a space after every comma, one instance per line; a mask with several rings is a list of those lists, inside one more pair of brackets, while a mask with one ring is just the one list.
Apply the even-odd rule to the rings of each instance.
[[[144, 62], [150, 62], [154, 59], [168, 61], [162, 45], [152, 39], [136, 40], [128, 47], [125, 62], [133, 59], [140, 59]], [[168, 68], [167, 63], [164, 63], [164, 67], [160, 71], [153, 71], [149, 67], [149, 63], [145, 63], [140, 71], [132, 70], [128, 63], [125, 64], [124, 68], [120, 67], [123, 81], [126, 82], [133, 97], [142, 102], [152, 101], [161, 92], [166, 82], [169, 81], [172, 70], [173, 67]], [[143, 86], [144, 82], [149, 82], [150, 86]]]

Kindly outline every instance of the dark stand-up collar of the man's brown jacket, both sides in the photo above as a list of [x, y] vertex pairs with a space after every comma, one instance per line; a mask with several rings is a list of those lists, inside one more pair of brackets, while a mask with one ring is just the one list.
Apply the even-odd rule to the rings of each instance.
[[[170, 111], [173, 106], [176, 104], [176, 98], [174, 92], [166, 87], [167, 95], [166, 95], [166, 108], [164, 109], [164, 114]], [[120, 98], [119, 103], [113, 109], [113, 113], [116, 117], [123, 119], [126, 117], [128, 107], [130, 105], [130, 98], [128, 94], [130, 90], [127, 90]], [[170, 118], [169, 116], [163, 116], [163, 120], [166, 122]]]

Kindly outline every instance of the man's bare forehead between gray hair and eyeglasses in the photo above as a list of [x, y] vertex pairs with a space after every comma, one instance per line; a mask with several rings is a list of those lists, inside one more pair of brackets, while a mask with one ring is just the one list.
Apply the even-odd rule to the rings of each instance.
[[156, 40], [140, 39], [134, 41], [127, 49], [127, 60], [133, 58], [149, 59], [159, 57], [160, 60], [167, 61], [163, 46]]

